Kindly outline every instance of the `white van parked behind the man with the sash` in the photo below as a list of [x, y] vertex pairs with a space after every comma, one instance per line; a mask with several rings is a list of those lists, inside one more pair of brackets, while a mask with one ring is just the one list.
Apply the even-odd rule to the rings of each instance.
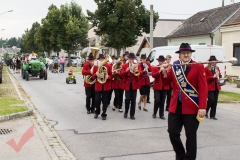
[[[191, 48], [195, 50], [195, 52], [192, 53], [192, 59], [196, 62], [206, 62], [211, 55], [216, 56], [217, 60], [225, 59], [225, 53], [222, 46], [191, 45]], [[174, 61], [179, 59], [179, 55], [175, 53], [178, 49], [179, 46], [166, 46], [153, 48], [148, 55], [148, 58], [151, 61], [151, 65], [155, 66], [158, 64], [158, 61], [156, 59], [159, 57], [159, 55], [163, 55], [164, 57], [166, 57], [166, 55], [171, 55], [172, 61], [170, 63], [172, 64]], [[222, 77], [225, 77], [226, 64], [218, 63], [217, 66], [220, 68]], [[154, 79], [150, 77], [150, 82], [152, 83], [153, 81]], [[225, 79], [224, 78], [220, 79], [219, 83], [220, 85], [224, 85]]]

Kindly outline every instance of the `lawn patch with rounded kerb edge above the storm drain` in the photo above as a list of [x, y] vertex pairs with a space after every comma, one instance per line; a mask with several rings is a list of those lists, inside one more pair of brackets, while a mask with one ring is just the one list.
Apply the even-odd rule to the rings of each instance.
[[17, 99], [1, 99], [0, 100], [0, 116], [17, 112], [27, 111], [24, 101]]

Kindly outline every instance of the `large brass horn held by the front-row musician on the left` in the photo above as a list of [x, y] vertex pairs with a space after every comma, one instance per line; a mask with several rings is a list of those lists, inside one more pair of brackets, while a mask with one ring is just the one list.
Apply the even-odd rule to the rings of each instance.
[[99, 76], [97, 77], [97, 81], [101, 84], [104, 84], [107, 82], [107, 79], [105, 77], [105, 72], [107, 72], [107, 67], [105, 67], [104, 65], [107, 63], [107, 62], [112, 62], [112, 58], [107, 54], [106, 55], [106, 59], [104, 59], [100, 66], [98, 67], [98, 73], [99, 73]]

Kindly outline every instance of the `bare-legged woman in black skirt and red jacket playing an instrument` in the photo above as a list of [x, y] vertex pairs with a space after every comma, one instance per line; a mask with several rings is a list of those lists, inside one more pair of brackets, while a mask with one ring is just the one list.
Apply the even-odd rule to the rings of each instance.
[[146, 55], [142, 54], [141, 55], [141, 63], [138, 64], [138, 68], [141, 69], [141, 71], [143, 72], [142, 76], [140, 76], [140, 84], [141, 84], [141, 88], [140, 88], [140, 98], [138, 101], [138, 108], [141, 110], [141, 102], [143, 100], [144, 102], [144, 107], [143, 110], [144, 111], [148, 111], [146, 108], [146, 104], [147, 104], [147, 95], [150, 92], [150, 79], [148, 76], [148, 72], [151, 72], [151, 65], [149, 62], [146, 62]]

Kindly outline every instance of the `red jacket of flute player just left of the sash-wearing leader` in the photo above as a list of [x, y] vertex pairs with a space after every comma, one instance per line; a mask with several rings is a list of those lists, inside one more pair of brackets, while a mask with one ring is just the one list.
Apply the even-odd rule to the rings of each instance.
[[154, 78], [153, 90], [169, 90], [169, 85], [164, 86], [162, 83], [163, 75], [159, 73], [159, 67], [152, 67], [152, 77]]

